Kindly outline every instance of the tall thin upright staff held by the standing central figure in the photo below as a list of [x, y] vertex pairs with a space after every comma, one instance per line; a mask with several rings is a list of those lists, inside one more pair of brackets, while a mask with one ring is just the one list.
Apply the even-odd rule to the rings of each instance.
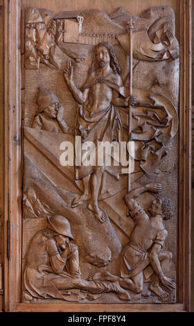
[[[132, 73], [133, 73], [133, 20], [130, 19], [130, 21], [127, 23], [129, 26], [129, 35], [130, 35], [130, 74], [129, 74], [129, 91], [130, 96], [132, 95]], [[131, 132], [132, 132], [132, 105], [129, 104], [128, 107], [128, 141], [131, 139]], [[130, 153], [129, 153], [129, 167], [128, 167], [128, 174], [127, 174], [127, 192], [131, 190], [131, 160], [130, 160]], [[129, 216], [129, 209], [127, 209], [127, 216]]]

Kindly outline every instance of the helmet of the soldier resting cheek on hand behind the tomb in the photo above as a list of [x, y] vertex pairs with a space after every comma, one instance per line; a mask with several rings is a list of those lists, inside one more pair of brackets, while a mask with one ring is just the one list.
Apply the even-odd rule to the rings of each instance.
[[37, 97], [38, 109], [36, 115], [46, 110], [49, 105], [53, 105], [55, 103], [60, 103], [58, 96], [51, 92], [50, 89], [39, 87], [39, 94]]

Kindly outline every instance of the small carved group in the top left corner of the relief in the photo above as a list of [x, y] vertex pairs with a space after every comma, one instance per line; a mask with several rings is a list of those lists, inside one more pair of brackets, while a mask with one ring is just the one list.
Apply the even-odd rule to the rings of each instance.
[[44, 10], [41, 15], [37, 8], [26, 9], [26, 69], [39, 69], [40, 63], [51, 69], [62, 69], [67, 58], [75, 62], [82, 61], [77, 53], [69, 49], [60, 49], [59, 44], [62, 42], [64, 30], [60, 19], [53, 20], [53, 17], [53, 12], [49, 10]]

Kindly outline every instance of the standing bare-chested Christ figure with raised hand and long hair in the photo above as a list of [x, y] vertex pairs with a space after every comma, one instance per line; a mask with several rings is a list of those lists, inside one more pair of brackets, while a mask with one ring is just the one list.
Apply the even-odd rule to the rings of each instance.
[[[79, 104], [76, 114], [76, 135], [82, 137], [82, 142], [92, 141], [98, 148], [98, 141], [109, 141], [109, 143], [121, 141], [122, 124], [116, 105], [127, 107], [128, 101], [134, 105], [136, 98], [134, 96], [124, 98], [121, 94], [123, 81], [120, 74], [121, 68], [114, 48], [106, 42], [95, 47], [91, 69], [82, 90], [73, 83], [73, 67], [71, 62], [67, 61], [64, 79]], [[106, 218], [105, 212], [98, 206], [98, 194], [104, 169], [105, 159], [103, 166], [83, 164], [76, 166], [76, 180], [82, 180], [83, 193], [72, 202], [72, 207], [77, 207], [90, 199], [88, 209], [94, 212], [94, 216], [100, 223], [104, 223]]]

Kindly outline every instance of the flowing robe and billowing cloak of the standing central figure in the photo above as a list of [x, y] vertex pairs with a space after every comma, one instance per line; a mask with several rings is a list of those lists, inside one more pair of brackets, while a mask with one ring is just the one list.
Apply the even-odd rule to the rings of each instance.
[[[114, 76], [114, 75], [113, 75]], [[114, 89], [118, 96], [126, 98], [129, 95], [128, 87], [118, 86], [114, 78], [101, 79]], [[89, 77], [82, 89], [89, 89], [99, 83], [94, 77]], [[177, 112], [173, 103], [161, 94], [155, 94], [150, 90], [133, 88], [133, 94], [138, 103], [132, 109], [132, 132], [127, 139], [127, 108], [118, 108], [111, 103], [105, 110], [91, 112], [87, 102], [78, 105], [76, 112], [76, 135], [80, 135], [82, 144], [92, 141], [98, 151], [98, 141], [134, 141], [134, 153], [130, 153], [139, 165], [139, 171], [150, 175], [155, 172], [161, 159], [168, 153], [166, 145], [177, 132]], [[91, 152], [82, 151], [85, 161]], [[107, 157], [104, 155], [105, 164]], [[76, 166], [76, 180], [80, 180], [96, 171], [97, 164]], [[107, 173], [121, 178], [121, 166], [105, 166]]]

